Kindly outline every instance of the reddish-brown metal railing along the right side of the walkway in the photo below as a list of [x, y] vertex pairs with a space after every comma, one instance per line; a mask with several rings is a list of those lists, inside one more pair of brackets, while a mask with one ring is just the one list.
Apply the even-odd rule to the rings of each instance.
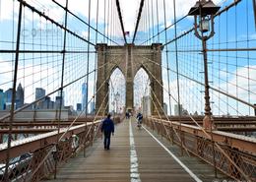
[[[182, 144], [183, 149], [207, 163], [213, 166], [216, 163], [215, 167], [229, 177], [238, 181], [256, 181], [256, 139], [213, 131], [212, 141], [197, 126], [154, 117], [145, 119], [145, 123], [172, 144]], [[174, 132], [179, 135], [182, 143]]]

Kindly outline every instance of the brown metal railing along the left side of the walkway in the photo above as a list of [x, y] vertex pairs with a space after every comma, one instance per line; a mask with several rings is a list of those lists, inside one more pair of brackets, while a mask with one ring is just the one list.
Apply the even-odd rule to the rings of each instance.
[[[55, 172], [56, 161], [61, 165], [81, 149], [93, 145], [94, 139], [99, 136], [99, 125], [100, 120], [97, 120], [73, 126], [68, 131], [61, 129], [59, 135], [53, 131], [14, 141], [10, 149], [9, 180], [34, 182], [48, 177]], [[64, 137], [56, 145], [56, 139], [63, 134]], [[4, 180], [6, 150], [7, 145], [1, 144], [0, 181]]]

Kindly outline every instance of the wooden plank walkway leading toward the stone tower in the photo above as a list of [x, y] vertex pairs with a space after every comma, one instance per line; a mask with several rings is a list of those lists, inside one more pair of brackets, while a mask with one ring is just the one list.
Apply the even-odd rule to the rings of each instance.
[[[130, 123], [132, 133], [129, 130]], [[177, 151], [173, 147], [174, 154]], [[194, 168], [192, 174], [189, 174], [146, 130], [138, 130], [135, 119], [124, 120], [115, 128], [109, 151], [103, 150], [102, 140], [98, 139], [92, 148], [87, 149], [86, 157], [83, 152], [79, 153], [58, 169], [57, 179], [45, 181], [189, 182], [215, 179], [214, 169], [208, 164], [188, 156], [182, 156], [181, 159], [187, 161], [188, 168]], [[220, 174], [219, 176], [224, 177]]]

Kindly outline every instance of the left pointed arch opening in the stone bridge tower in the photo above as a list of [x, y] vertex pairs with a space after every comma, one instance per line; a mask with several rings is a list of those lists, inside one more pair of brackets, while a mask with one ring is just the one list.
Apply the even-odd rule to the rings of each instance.
[[118, 67], [115, 67], [112, 70], [108, 83], [108, 111], [112, 113], [122, 113], [126, 101], [126, 81], [123, 73]]

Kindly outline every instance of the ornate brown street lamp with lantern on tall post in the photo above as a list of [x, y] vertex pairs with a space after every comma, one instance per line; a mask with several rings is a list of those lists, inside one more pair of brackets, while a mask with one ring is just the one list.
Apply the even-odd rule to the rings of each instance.
[[215, 34], [214, 15], [220, 10], [220, 8], [221, 7], [216, 6], [212, 0], [199, 0], [188, 13], [189, 16], [194, 16], [195, 35], [202, 40], [205, 69], [205, 117], [203, 120], [203, 127], [211, 130], [214, 128], [214, 123], [210, 106], [206, 41]]

